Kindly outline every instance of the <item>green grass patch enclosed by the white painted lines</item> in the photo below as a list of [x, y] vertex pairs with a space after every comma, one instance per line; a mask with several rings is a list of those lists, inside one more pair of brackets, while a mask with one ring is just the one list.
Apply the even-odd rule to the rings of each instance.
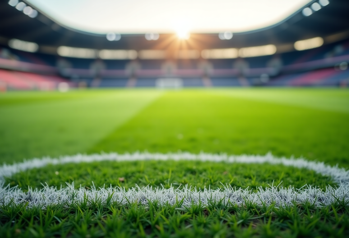
[[269, 164], [228, 164], [225, 162], [201, 161], [134, 161], [134, 162], [91, 162], [80, 164], [49, 165], [17, 173], [7, 178], [6, 183], [19, 185], [26, 190], [29, 187], [42, 188], [42, 183], [49, 186], [63, 187], [65, 182], [75, 187], [91, 188], [109, 186], [125, 187], [138, 184], [140, 187], [163, 185], [175, 188], [180, 184], [211, 189], [223, 188], [221, 183], [232, 187], [256, 190], [257, 187], [269, 187], [268, 184], [300, 188], [305, 184], [325, 188], [335, 184], [330, 178], [308, 169], [298, 169], [283, 165]]

